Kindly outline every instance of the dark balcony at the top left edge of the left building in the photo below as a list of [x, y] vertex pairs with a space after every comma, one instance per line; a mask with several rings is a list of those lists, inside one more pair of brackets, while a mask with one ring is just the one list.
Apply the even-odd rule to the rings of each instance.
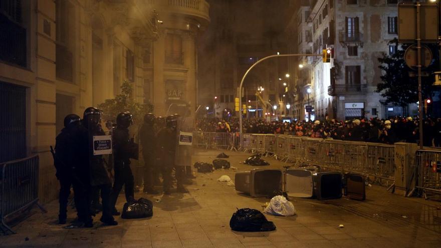
[[0, 14], [0, 60], [27, 67], [26, 29]]

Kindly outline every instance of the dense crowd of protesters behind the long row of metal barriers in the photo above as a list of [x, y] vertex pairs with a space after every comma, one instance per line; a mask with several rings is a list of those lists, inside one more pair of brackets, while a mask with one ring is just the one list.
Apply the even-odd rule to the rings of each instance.
[[[199, 119], [196, 128], [206, 132], [239, 132], [239, 120]], [[334, 119], [315, 121], [267, 122], [263, 119], [244, 119], [244, 133], [288, 134], [296, 136], [366, 141], [393, 144], [395, 142], [418, 143], [419, 122], [412, 117], [390, 119], [353, 119], [336, 121]], [[441, 118], [423, 120], [423, 145], [441, 146]]]

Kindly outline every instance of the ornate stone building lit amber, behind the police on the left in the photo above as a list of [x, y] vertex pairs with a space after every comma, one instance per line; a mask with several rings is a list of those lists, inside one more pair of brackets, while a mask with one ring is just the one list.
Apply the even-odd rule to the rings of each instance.
[[113, 98], [124, 80], [156, 115], [173, 106], [193, 115], [195, 37], [208, 9], [203, 0], [1, 1], [0, 162], [38, 154], [39, 196], [56, 198], [49, 147], [64, 116]]

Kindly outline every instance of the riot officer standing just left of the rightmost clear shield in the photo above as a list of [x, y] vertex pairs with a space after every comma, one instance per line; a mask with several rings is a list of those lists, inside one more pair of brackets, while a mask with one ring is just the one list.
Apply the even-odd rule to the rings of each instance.
[[[164, 194], [170, 194], [171, 186], [171, 172], [175, 166], [176, 144], [177, 144], [177, 119], [175, 116], [170, 115], [166, 118], [166, 126], [162, 128], [158, 133], [158, 150], [160, 156], [160, 162], [162, 164], [162, 177]], [[180, 172], [176, 171], [180, 174]], [[177, 191], [187, 192], [182, 185], [182, 177], [176, 177]]]

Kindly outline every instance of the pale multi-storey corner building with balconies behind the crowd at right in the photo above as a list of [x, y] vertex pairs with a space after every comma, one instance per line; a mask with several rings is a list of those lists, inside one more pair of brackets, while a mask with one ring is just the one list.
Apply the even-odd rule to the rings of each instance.
[[[299, 62], [303, 68], [297, 69], [301, 75], [297, 82], [301, 91], [297, 94], [298, 105], [305, 106], [307, 102], [306, 86], [311, 88], [310, 105], [316, 119], [326, 115], [339, 120], [386, 117], [389, 108], [375, 92], [381, 76], [377, 59], [383, 53], [396, 51], [388, 42], [397, 37], [397, 1], [310, 2], [309, 18], [302, 19], [300, 24], [308, 27], [303, 35], [312, 35], [313, 54], [331, 48], [333, 59], [331, 63], [323, 63], [322, 57], [316, 56]], [[300, 50], [305, 51], [305, 43], [299, 44]]]

